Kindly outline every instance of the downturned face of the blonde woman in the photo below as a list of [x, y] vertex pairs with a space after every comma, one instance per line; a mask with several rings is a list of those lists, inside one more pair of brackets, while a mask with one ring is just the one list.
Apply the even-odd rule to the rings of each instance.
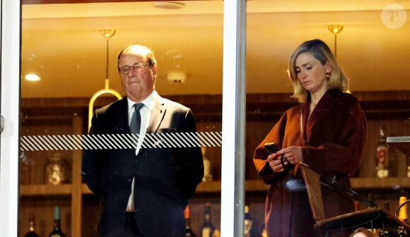
[[308, 92], [315, 93], [327, 90], [327, 75], [332, 67], [329, 62], [320, 63], [312, 54], [300, 54], [295, 60], [295, 72], [303, 88]]

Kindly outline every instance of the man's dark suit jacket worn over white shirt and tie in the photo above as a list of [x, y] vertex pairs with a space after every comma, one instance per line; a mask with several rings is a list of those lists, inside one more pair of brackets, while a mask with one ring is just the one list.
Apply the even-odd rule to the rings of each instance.
[[[127, 134], [127, 99], [97, 109], [90, 134]], [[196, 131], [189, 108], [158, 96], [148, 133]], [[117, 236], [134, 178], [135, 218], [147, 237], [185, 236], [183, 209], [204, 175], [200, 147], [84, 150], [83, 181], [102, 205], [101, 236]]]

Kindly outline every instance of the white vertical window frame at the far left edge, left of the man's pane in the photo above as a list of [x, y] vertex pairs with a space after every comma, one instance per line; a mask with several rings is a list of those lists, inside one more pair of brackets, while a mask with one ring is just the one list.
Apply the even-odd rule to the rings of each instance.
[[4, 131], [0, 137], [0, 231], [18, 233], [18, 134], [20, 120], [21, 3], [1, 1], [1, 107]]

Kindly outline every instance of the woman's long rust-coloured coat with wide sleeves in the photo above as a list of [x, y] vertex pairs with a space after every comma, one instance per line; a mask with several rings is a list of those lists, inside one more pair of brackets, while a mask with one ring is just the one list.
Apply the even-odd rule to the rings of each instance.
[[[321, 176], [336, 176], [350, 187], [349, 174], [362, 162], [367, 123], [358, 99], [339, 90], [328, 90], [309, 119], [310, 102], [288, 109], [254, 152], [254, 164], [265, 183], [265, 223], [269, 237], [318, 236], [305, 190], [283, 188], [288, 174], [276, 174], [266, 163], [266, 142], [280, 147], [300, 146], [303, 162]], [[301, 117], [302, 116], [302, 117]], [[302, 126], [302, 128], [300, 128]], [[353, 211], [353, 201], [322, 186], [324, 212], [334, 217]]]

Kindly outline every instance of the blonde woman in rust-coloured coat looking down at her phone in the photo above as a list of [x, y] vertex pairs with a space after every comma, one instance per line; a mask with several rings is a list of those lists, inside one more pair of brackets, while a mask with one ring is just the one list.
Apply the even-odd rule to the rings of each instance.
[[[288, 66], [297, 106], [288, 109], [254, 152], [265, 183], [265, 224], [269, 237], [320, 236], [305, 190], [286, 187], [288, 166], [304, 162], [320, 176], [350, 187], [349, 175], [362, 162], [367, 123], [358, 99], [346, 93], [347, 80], [327, 44], [313, 39], [294, 51]], [[281, 150], [269, 154], [275, 142]], [[353, 211], [353, 200], [322, 186], [324, 212], [334, 217]], [[334, 233], [332, 236], [348, 236]]]

